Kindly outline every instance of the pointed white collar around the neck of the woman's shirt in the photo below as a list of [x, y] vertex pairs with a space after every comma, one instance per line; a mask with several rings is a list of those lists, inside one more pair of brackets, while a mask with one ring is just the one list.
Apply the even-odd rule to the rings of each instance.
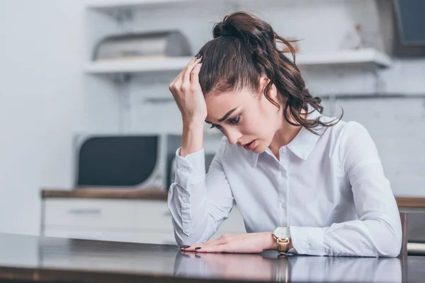
[[[308, 111], [311, 112], [309, 115], [307, 115], [308, 120], [315, 120], [317, 117], [322, 116], [322, 114], [320, 114], [318, 110], [315, 110], [311, 105], [308, 105]], [[295, 154], [298, 158], [306, 160], [312, 153], [314, 146], [317, 144], [317, 141], [320, 138], [320, 134], [322, 134], [321, 129], [323, 129], [323, 127], [320, 125], [313, 128], [314, 132], [319, 134], [317, 135], [309, 132], [307, 129], [305, 129], [305, 127], [302, 127], [300, 132], [298, 132], [295, 138], [287, 145], [288, 149], [292, 151], [293, 154]], [[252, 166], [256, 167], [256, 164], [259, 160], [259, 155], [260, 154], [251, 152]]]

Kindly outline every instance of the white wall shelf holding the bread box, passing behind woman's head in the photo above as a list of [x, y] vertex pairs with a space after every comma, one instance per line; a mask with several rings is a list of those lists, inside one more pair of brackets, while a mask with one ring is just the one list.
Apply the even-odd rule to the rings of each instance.
[[[136, 74], [154, 71], [179, 71], [192, 57], [161, 57], [149, 59], [122, 59], [91, 62], [85, 68], [89, 74]], [[391, 59], [373, 49], [342, 50], [318, 54], [297, 54], [297, 65], [352, 65], [361, 64], [375, 69], [390, 67]]]

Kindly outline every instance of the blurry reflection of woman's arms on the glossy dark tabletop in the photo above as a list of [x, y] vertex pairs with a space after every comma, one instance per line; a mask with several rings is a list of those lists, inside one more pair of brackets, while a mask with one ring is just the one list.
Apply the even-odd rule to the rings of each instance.
[[174, 275], [277, 282], [402, 282], [399, 258], [178, 253]]

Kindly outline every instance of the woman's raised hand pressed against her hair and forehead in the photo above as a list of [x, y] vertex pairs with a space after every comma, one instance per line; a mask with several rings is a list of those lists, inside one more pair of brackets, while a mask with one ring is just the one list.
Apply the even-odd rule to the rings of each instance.
[[193, 122], [203, 125], [207, 117], [207, 105], [199, 84], [200, 60], [194, 57], [169, 85], [181, 112], [183, 125]]

